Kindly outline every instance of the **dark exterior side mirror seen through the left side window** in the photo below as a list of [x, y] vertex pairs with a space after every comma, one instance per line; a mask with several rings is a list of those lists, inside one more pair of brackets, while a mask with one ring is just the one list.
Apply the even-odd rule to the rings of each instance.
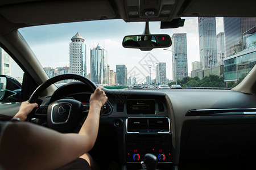
[[18, 80], [7, 75], [0, 75], [0, 102], [20, 101], [22, 85]]

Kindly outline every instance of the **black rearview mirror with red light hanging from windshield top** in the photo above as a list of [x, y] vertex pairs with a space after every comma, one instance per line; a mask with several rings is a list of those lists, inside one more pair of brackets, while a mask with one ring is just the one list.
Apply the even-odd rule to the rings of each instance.
[[172, 45], [171, 37], [166, 34], [130, 35], [123, 38], [124, 48], [138, 48], [150, 51], [153, 48], [166, 48]]

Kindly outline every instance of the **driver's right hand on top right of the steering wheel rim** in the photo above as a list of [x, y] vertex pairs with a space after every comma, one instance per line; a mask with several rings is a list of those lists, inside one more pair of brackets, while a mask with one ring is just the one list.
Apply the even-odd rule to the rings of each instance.
[[96, 88], [94, 93], [90, 95], [90, 106], [95, 106], [97, 109], [100, 109], [102, 105], [106, 103], [108, 97], [105, 92], [102, 90], [102, 87], [99, 86]]

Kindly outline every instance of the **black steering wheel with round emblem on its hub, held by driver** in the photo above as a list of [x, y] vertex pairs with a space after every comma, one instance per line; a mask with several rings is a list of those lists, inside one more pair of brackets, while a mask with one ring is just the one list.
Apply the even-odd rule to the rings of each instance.
[[[92, 90], [92, 92], [97, 88], [93, 82], [81, 75], [57, 75], [51, 79], [46, 80], [46, 82], [42, 83], [38, 88], [36, 88], [36, 90], [30, 96], [28, 102], [35, 103], [39, 95], [42, 94], [42, 92], [46, 90], [47, 87], [64, 79], [80, 80], [81, 82], [85, 83]], [[89, 104], [82, 104], [80, 101], [74, 99], [60, 99], [53, 101], [49, 105], [38, 107], [35, 112], [28, 114], [28, 120], [33, 117], [40, 118], [47, 116], [47, 124], [49, 128], [58, 131], [67, 131], [77, 125], [77, 122], [79, 121], [79, 113], [88, 111]]]

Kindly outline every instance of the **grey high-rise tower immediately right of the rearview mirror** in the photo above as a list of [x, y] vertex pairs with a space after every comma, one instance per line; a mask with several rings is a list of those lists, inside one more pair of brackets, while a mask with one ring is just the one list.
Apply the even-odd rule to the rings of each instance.
[[172, 78], [181, 80], [188, 76], [187, 34], [172, 35]]

